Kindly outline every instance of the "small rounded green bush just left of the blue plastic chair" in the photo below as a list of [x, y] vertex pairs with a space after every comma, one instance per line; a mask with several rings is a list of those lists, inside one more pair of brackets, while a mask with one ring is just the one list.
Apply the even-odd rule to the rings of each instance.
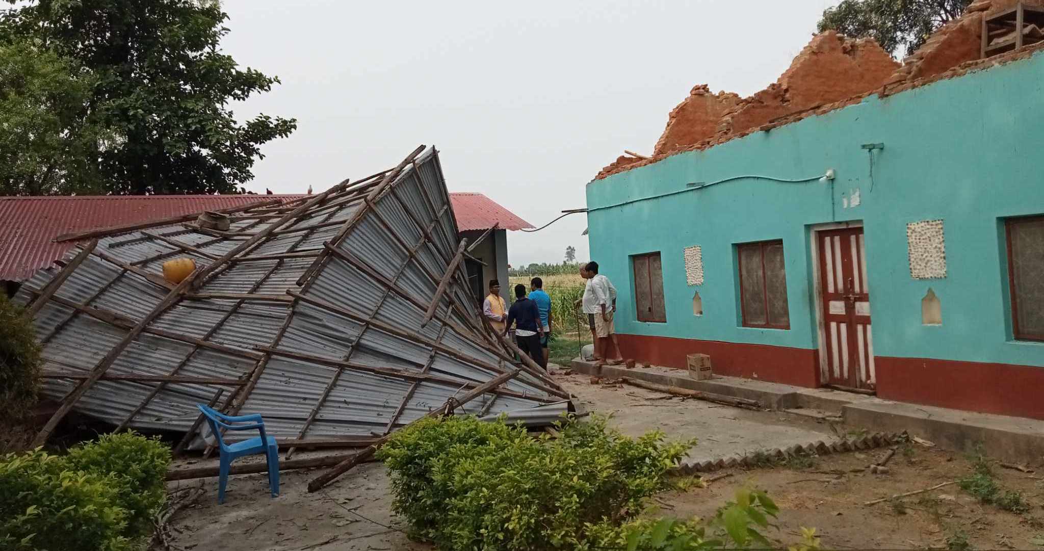
[[66, 460], [74, 471], [112, 473], [119, 488], [117, 503], [127, 512], [124, 533], [129, 537], [152, 533], [152, 517], [167, 496], [170, 449], [166, 445], [130, 432], [106, 434], [70, 450]]

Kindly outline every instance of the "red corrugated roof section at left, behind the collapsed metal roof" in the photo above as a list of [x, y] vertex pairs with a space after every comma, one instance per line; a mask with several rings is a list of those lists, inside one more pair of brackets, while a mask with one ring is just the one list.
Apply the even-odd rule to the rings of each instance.
[[0, 197], [0, 280], [25, 280], [50, 266], [75, 244], [51, 240], [69, 232], [296, 197], [300, 195]]

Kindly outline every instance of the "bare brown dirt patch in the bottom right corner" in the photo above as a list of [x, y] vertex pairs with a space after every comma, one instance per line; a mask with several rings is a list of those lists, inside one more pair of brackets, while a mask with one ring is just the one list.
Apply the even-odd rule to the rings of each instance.
[[[825, 549], [947, 549], [963, 534], [974, 549], [1044, 549], [1044, 480], [995, 466], [998, 483], [1016, 489], [1030, 506], [1016, 514], [994, 505], [980, 504], [957, 485], [910, 496], [894, 503], [865, 502], [957, 480], [970, 473], [963, 455], [909, 448], [889, 462], [889, 473], [871, 474], [864, 469], [886, 450], [846, 453], [815, 458], [805, 469], [731, 470], [732, 476], [685, 493], [662, 494], [660, 516], [678, 518], [714, 514], [731, 500], [737, 488], [752, 484], [767, 490], [780, 507], [779, 531], [772, 538], [796, 543], [800, 527], [815, 527]], [[863, 469], [853, 473], [853, 470]], [[716, 473], [715, 473], [716, 474]], [[712, 476], [712, 475], [705, 475]]]

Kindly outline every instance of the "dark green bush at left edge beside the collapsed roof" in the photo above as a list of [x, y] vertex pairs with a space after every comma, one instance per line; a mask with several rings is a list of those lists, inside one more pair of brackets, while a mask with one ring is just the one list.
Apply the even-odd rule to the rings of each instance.
[[0, 294], [0, 426], [23, 421], [40, 390], [40, 344], [23, 312]]

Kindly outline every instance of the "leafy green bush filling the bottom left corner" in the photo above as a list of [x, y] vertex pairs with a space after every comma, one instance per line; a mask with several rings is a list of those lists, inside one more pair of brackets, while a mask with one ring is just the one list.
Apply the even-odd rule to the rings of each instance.
[[7, 455], [0, 460], [0, 549], [133, 549], [119, 492], [108, 475], [69, 470], [40, 450]]

